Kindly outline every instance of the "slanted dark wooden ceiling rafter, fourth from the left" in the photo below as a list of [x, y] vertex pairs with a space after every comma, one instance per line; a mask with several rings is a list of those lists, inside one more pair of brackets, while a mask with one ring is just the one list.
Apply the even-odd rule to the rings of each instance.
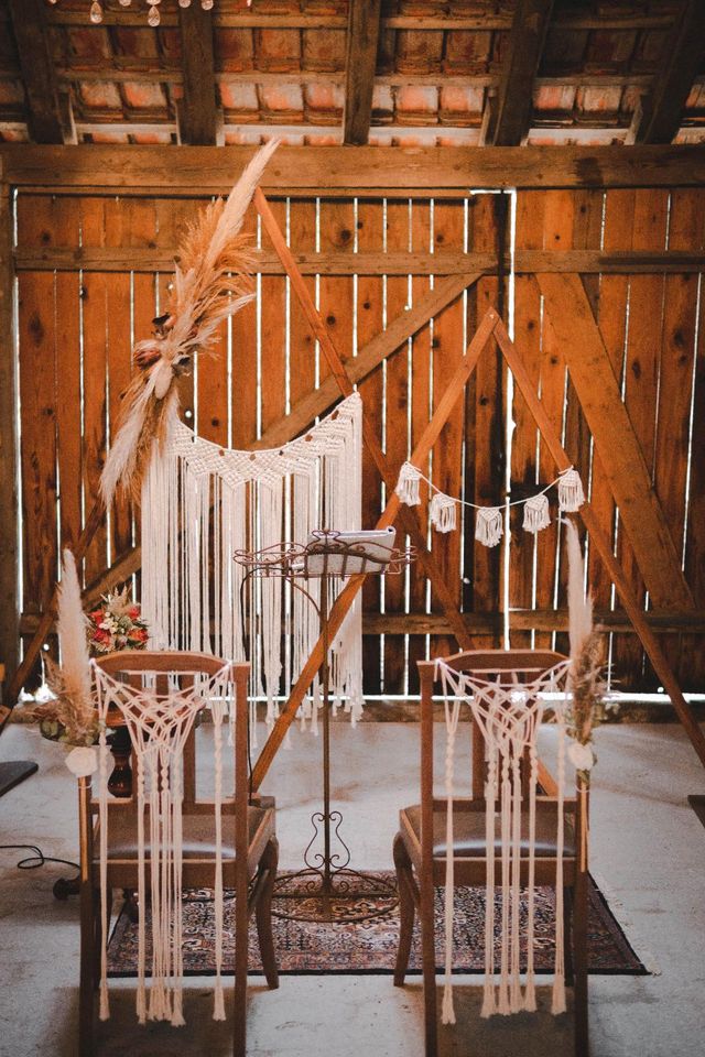
[[518, 146], [529, 132], [533, 81], [552, 9], [553, 0], [519, 0], [517, 4], [499, 89], [490, 111], [488, 144]]

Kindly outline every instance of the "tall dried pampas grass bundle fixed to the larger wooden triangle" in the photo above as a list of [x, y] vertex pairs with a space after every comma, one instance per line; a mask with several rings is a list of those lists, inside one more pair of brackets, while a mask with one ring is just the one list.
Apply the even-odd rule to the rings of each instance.
[[176, 413], [176, 379], [191, 369], [196, 353], [213, 352], [223, 320], [254, 296], [253, 248], [241, 227], [278, 145], [278, 140], [271, 140], [258, 151], [228, 198], [206, 206], [186, 231], [166, 310], [154, 320], [153, 337], [133, 350], [137, 370], [100, 478], [106, 506], [118, 487], [139, 501], [152, 444], [165, 442]]

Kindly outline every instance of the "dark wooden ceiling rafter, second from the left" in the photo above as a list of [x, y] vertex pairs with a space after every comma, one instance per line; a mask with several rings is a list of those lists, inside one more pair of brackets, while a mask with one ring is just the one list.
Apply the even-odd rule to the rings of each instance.
[[215, 146], [218, 140], [213, 14], [199, 3], [178, 9], [184, 96], [178, 106], [181, 142]]

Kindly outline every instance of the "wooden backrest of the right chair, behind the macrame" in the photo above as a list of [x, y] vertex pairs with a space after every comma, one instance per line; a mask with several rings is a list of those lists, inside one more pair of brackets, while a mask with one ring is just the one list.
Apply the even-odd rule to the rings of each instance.
[[[542, 672], [554, 667], [567, 657], [553, 650], [464, 650], [454, 653], [443, 661], [455, 672], [469, 673], [482, 679], [492, 682], [499, 679], [501, 684], [508, 682], [525, 683], [539, 676]], [[431, 750], [429, 759], [422, 759], [422, 775], [430, 769], [430, 778], [433, 784], [433, 684], [435, 680], [435, 661], [420, 661], [419, 673], [421, 678], [421, 722], [424, 722], [424, 712], [429, 712], [426, 734], [423, 745], [429, 743]], [[473, 761], [473, 797], [481, 799], [485, 795], [485, 743], [473, 717], [470, 721], [471, 761]]]

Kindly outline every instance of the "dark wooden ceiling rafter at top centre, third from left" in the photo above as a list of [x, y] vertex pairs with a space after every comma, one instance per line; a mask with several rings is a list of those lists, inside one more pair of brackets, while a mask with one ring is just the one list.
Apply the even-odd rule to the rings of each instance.
[[343, 142], [362, 146], [372, 120], [381, 0], [350, 0]]

